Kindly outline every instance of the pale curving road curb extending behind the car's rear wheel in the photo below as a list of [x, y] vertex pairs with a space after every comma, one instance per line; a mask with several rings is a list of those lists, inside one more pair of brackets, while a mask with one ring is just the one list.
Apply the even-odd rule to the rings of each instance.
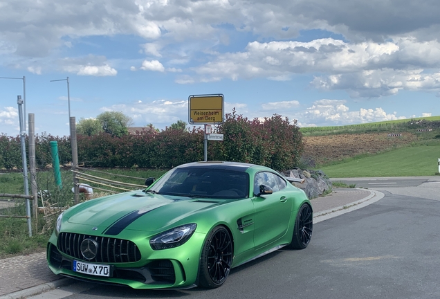
[[383, 199], [383, 197], [385, 197], [385, 194], [376, 190], [367, 190], [361, 188], [355, 188], [355, 189], [369, 191], [369, 195], [367, 197], [364, 197], [363, 199], [359, 199], [358, 201], [347, 203], [344, 206], [338, 206], [336, 208], [331, 208], [329, 210], [323, 210], [321, 212], [313, 213], [313, 224], [317, 224], [321, 221], [331, 219], [333, 217], [337, 217], [347, 212], [358, 210], [372, 203], [375, 203], [376, 201], [379, 201]]

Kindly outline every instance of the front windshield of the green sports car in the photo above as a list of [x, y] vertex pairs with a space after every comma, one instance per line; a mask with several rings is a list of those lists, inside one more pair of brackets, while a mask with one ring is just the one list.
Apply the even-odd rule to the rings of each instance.
[[149, 190], [184, 197], [241, 199], [248, 197], [249, 175], [203, 167], [176, 168], [167, 172]]

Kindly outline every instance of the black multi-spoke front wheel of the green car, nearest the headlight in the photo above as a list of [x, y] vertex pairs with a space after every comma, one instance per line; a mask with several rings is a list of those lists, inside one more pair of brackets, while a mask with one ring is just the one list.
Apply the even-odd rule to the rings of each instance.
[[220, 287], [226, 281], [232, 265], [232, 238], [223, 226], [216, 226], [203, 244], [199, 286], [209, 289]]

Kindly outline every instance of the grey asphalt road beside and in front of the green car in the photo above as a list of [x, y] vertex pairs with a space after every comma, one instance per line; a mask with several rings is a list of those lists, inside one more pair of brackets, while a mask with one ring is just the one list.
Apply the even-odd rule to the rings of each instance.
[[304, 251], [281, 250], [232, 269], [219, 289], [145, 291], [79, 282], [54, 290], [53, 298], [440, 298], [440, 183], [418, 180], [372, 188], [385, 197], [315, 224]]

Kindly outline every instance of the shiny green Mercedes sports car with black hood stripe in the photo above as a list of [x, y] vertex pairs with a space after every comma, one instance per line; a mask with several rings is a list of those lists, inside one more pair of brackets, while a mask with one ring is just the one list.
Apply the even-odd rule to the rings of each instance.
[[215, 288], [233, 267], [310, 242], [309, 199], [271, 168], [197, 162], [147, 181], [59, 215], [51, 271], [136, 289]]

